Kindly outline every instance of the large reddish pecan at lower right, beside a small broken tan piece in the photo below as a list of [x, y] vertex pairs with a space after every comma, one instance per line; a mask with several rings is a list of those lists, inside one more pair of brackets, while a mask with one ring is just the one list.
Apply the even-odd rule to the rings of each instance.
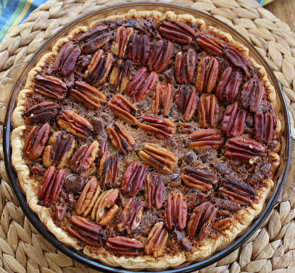
[[215, 215], [216, 209], [208, 202], [204, 202], [194, 208], [187, 223], [186, 234], [190, 237], [196, 234], [198, 240], [203, 240], [214, 223]]

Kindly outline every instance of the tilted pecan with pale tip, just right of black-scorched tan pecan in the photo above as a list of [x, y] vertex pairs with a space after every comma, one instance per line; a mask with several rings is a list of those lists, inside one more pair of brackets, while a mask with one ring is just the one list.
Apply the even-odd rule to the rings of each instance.
[[87, 171], [94, 162], [97, 152], [97, 141], [89, 145], [80, 146], [69, 163], [70, 169], [76, 173]]

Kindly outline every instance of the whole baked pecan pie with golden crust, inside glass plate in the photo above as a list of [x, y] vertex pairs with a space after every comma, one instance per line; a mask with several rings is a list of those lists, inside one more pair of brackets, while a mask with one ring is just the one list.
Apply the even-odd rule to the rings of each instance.
[[281, 122], [265, 69], [189, 14], [77, 27], [27, 75], [12, 164], [30, 208], [111, 266], [205, 259], [274, 186]]

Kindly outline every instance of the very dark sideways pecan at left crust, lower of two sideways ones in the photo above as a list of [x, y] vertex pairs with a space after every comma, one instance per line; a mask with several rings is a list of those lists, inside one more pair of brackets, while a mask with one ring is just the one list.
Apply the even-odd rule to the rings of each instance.
[[58, 105], [52, 101], [44, 101], [27, 109], [22, 115], [26, 123], [45, 122], [54, 118]]

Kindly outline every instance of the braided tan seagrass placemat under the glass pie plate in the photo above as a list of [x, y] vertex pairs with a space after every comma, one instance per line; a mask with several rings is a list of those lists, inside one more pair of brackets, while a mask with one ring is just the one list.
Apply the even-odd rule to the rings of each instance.
[[[281, 83], [295, 136], [295, 34], [254, 0], [160, 0], [212, 14], [255, 45]], [[124, 0], [48, 0], [0, 43], [0, 79], [12, 65], [31, 57], [63, 25], [84, 13]], [[1, 130], [1, 127], [0, 127]], [[0, 131], [1, 135], [1, 131]], [[97, 272], [49, 244], [24, 216], [5, 173], [0, 138], [0, 272]], [[295, 272], [295, 197], [270, 217], [239, 249], [198, 273]]]

